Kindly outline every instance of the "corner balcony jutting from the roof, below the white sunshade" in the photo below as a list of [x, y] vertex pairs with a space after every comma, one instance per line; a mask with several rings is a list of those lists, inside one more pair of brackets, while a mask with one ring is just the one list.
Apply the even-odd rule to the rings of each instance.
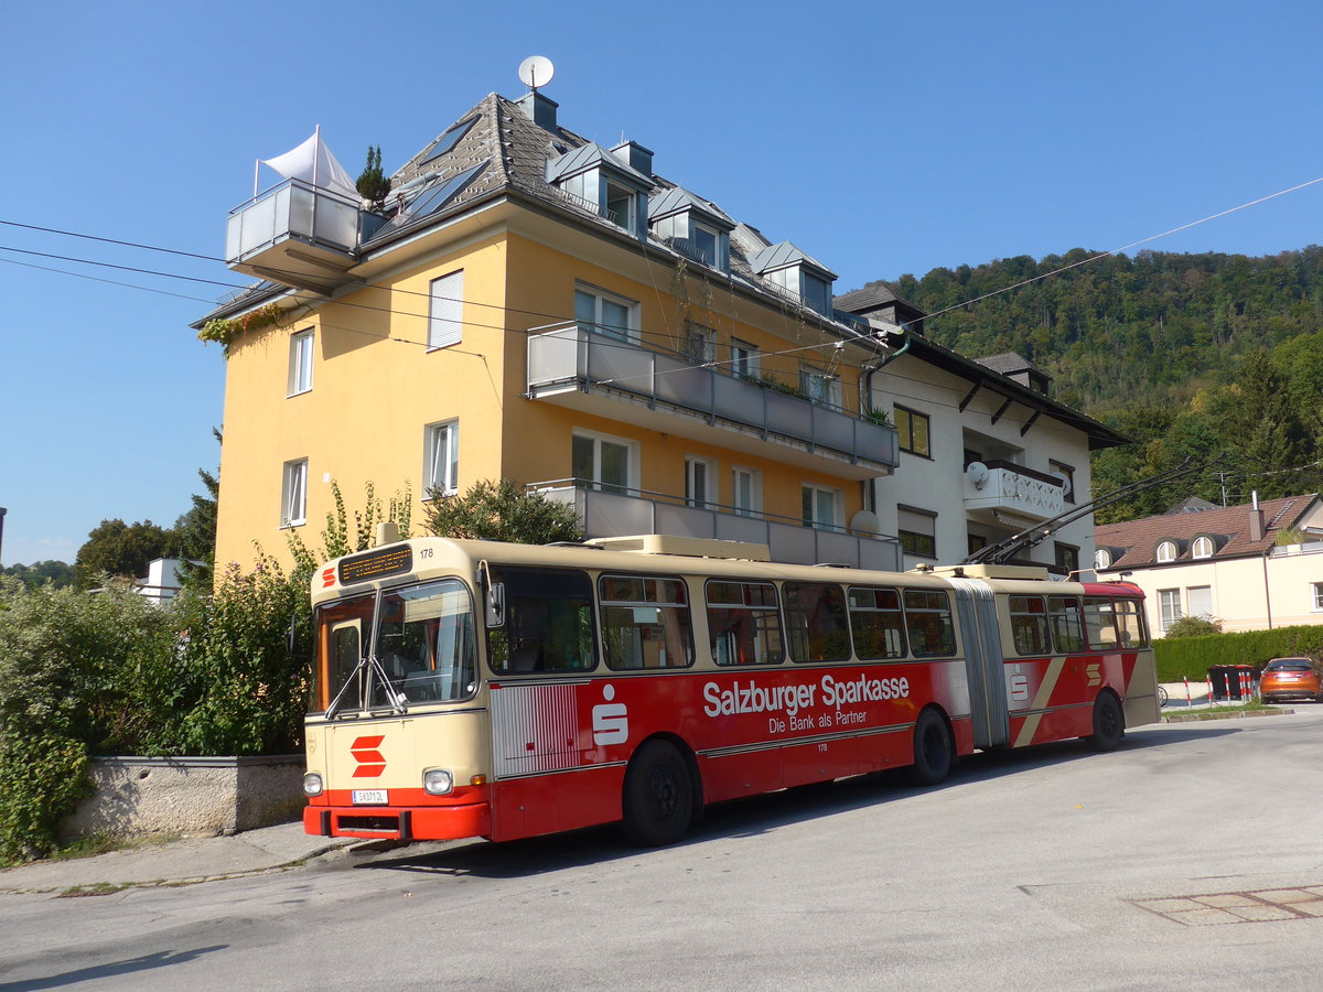
[[328, 292], [351, 280], [360, 225], [380, 220], [353, 200], [290, 179], [230, 210], [225, 259], [237, 272]]

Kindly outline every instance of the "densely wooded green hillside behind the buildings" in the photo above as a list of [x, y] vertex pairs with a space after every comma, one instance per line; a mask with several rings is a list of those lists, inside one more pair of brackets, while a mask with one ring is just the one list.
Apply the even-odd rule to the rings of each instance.
[[[1095, 493], [1226, 451], [1217, 470], [1150, 491], [1099, 522], [1213, 503], [1315, 492], [1323, 472], [1323, 247], [1265, 258], [1142, 251], [1085, 262], [934, 269], [886, 283], [931, 315], [929, 337], [971, 357], [1019, 352], [1052, 394], [1135, 439], [1094, 456]], [[972, 306], [967, 300], [1076, 263]], [[946, 312], [943, 312], [946, 311]]]

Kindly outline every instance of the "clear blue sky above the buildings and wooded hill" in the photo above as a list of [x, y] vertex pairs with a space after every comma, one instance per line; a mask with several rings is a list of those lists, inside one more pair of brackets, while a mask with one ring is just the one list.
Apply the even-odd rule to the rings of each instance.
[[[0, 221], [209, 257], [254, 159], [320, 124], [351, 175], [369, 143], [393, 171], [487, 93], [519, 97], [531, 54], [556, 63], [565, 127], [647, 145], [839, 292], [1117, 249], [1323, 176], [1316, 0], [69, 0], [8, 4], [4, 33]], [[1323, 184], [1148, 247], [1277, 253], [1320, 218]], [[0, 246], [242, 282], [8, 225]], [[224, 292], [0, 251], [0, 563], [71, 562], [103, 518], [188, 509], [225, 373], [188, 323]]]

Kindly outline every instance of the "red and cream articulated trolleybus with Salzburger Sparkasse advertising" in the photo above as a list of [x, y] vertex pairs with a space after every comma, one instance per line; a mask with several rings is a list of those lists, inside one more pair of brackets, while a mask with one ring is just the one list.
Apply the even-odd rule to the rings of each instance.
[[777, 565], [664, 536], [422, 538], [314, 575], [308, 833], [513, 840], [1158, 720], [1142, 593]]

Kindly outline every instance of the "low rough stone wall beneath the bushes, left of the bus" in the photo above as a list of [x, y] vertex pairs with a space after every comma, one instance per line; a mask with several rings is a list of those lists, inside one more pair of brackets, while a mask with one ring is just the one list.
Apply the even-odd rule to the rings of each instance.
[[94, 758], [95, 792], [65, 821], [94, 833], [234, 833], [299, 819], [303, 755], [271, 758]]

